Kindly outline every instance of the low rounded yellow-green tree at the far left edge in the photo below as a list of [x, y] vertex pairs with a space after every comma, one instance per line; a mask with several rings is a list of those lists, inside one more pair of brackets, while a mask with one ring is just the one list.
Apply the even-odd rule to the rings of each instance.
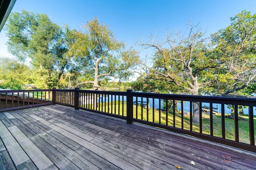
[[0, 88], [20, 90], [31, 83], [30, 68], [14, 59], [0, 57]]

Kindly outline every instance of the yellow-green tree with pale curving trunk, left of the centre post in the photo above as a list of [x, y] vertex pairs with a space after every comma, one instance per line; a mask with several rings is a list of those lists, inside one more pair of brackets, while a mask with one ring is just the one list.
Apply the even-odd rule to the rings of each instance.
[[124, 43], [118, 42], [107, 25], [99, 23], [98, 18], [83, 25], [84, 32], [76, 33], [76, 68], [83, 74], [81, 84], [93, 84], [94, 90], [100, 86], [100, 80], [114, 77], [125, 80], [132, 74], [138, 62], [134, 49], [124, 50]]

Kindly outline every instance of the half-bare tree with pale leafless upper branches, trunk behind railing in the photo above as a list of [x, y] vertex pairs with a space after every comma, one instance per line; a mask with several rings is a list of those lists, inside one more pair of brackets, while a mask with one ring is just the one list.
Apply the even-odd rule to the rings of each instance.
[[[214, 69], [219, 66], [215, 55], [209, 55], [210, 50], [206, 46], [207, 38], [203, 33], [190, 24], [188, 37], [181, 37], [177, 33], [166, 33], [164, 42], [156, 43], [153, 37], [151, 43], [140, 45], [156, 50], [154, 66], [151, 70], [158, 75], [159, 80], [172, 82], [178, 92], [186, 94], [204, 94], [204, 88], [208, 88], [215, 80]], [[193, 102], [193, 122], [199, 123], [199, 103]]]

